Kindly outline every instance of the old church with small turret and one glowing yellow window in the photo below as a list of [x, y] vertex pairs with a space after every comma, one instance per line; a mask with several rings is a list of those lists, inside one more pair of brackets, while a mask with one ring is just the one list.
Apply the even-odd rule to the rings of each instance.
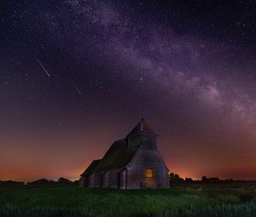
[[91, 188], [168, 188], [169, 169], [157, 150], [157, 136], [142, 118], [102, 159], [90, 163], [79, 186]]

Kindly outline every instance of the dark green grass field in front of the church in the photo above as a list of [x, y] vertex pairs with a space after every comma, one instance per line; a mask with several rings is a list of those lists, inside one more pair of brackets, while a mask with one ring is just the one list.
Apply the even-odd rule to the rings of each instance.
[[[253, 186], [169, 190], [0, 189], [0, 216], [256, 216]], [[241, 215], [242, 214], [242, 215]]]

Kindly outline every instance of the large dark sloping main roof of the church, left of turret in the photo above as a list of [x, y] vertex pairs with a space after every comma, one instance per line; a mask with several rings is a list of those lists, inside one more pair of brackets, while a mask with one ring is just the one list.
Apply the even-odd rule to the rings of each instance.
[[125, 168], [125, 166], [131, 162], [131, 159], [134, 157], [137, 149], [127, 149], [125, 139], [115, 141], [104, 157], [102, 157], [102, 160], [95, 168], [95, 171], [104, 172], [109, 169]]

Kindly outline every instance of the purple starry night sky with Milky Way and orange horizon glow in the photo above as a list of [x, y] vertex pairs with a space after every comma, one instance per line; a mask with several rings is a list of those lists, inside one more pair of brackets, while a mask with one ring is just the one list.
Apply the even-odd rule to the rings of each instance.
[[255, 1], [0, 6], [0, 180], [77, 180], [142, 116], [171, 172], [256, 180]]

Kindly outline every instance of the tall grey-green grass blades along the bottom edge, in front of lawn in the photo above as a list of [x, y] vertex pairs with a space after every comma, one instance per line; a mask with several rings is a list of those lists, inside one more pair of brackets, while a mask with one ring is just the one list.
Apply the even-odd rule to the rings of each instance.
[[[125, 210], [124, 210], [125, 211]], [[4, 205], [0, 208], [1, 217], [107, 217], [107, 214], [93, 214], [88, 208], [55, 208], [38, 207], [25, 208], [15, 205]], [[127, 216], [125, 212], [119, 216]], [[142, 216], [130, 214], [129, 216]], [[253, 217], [256, 216], [256, 206], [246, 204], [222, 204], [215, 207], [179, 208], [166, 210], [160, 214], [143, 214], [148, 217]]]

